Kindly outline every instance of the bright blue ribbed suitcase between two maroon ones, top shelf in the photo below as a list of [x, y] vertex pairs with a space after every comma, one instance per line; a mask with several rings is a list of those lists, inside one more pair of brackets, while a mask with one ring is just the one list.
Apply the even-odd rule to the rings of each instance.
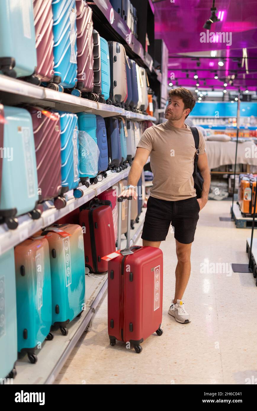
[[[77, 84], [77, 28], [75, 0], [52, 0], [54, 79], [50, 88], [63, 91]], [[56, 84], [54, 84], [56, 83]], [[58, 88], [58, 85], [62, 86]]]

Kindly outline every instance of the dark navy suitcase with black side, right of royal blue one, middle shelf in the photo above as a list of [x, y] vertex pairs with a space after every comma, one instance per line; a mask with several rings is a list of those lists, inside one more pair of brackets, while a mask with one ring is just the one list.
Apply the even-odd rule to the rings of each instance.
[[105, 118], [107, 131], [107, 145], [109, 155], [109, 169], [118, 171], [121, 163], [121, 143], [119, 137], [119, 120], [117, 117]]

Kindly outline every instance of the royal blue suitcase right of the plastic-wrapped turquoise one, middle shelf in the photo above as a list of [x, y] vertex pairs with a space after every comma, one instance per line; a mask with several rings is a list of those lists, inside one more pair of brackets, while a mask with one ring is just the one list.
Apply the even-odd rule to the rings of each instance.
[[105, 121], [100, 115], [96, 116], [96, 138], [97, 145], [100, 151], [98, 158], [98, 174], [102, 173], [103, 177], [107, 177], [106, 170], [108, 169], [108, 146]]

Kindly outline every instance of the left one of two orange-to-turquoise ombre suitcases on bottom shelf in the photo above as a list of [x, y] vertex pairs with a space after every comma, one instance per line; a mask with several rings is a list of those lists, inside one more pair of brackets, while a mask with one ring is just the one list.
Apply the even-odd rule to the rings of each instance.
[[33, 236], [14, 248], [18, 351], [37, 362], [35, 350], [45, 339], [53, 339], [51, 271], [45, 238]]

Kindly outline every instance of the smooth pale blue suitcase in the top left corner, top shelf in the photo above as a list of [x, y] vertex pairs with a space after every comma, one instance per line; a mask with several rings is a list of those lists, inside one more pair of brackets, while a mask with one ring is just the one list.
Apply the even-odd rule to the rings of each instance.
[[37, 52], [32, 0], [0, 1], [0, 71], [11, 77], [32, 76], [37, 67]]

